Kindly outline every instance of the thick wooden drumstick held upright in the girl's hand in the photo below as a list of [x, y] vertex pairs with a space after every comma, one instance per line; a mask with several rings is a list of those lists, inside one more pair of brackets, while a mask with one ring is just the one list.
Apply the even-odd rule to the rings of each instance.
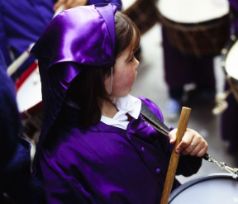
[[178, 162], [179, 162], [179, 154], [175, 152], [175, 147], [180, 143], [182, 140], [182, 137], [187, 129], [188, 119], [191, 112], [191, 108], [183, 107], [179, 122], [178, 122], [178, 130], [176, 133], [176, 142], [174, 145], [174, 149], [172, 151], [170, 160], [169, 160], [169, 166], [168, 171], [164, 183], [162, 198], [160, 200], [160, 204], [168, 204], [169, 195], [173, 186], [175, 173], [177, 170]]

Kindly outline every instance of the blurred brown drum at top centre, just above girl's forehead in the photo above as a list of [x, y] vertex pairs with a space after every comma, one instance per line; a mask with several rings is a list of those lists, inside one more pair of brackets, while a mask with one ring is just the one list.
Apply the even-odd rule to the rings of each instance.
[[159, 22], [156, 0], [124, 0], [122, 3], [123, 13], [133, 20], [141, 34], [144, 34]]

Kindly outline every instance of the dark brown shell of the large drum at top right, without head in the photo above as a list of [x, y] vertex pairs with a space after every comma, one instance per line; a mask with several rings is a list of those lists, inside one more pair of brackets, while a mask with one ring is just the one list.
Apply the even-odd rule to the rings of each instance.
[[173, 47], [186, 55], [211, 56], [220, 54], [230, 35], [230, 17], [196, 24], [177, 23], [160, 15]]

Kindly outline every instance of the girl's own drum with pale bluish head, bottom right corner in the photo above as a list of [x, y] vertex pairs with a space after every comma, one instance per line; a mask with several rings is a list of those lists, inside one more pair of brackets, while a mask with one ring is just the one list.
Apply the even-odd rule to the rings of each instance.
[[230, 174], [217, 174], [189, 181], [170, 196], [169, 204], [238, 203], [238, 180]]

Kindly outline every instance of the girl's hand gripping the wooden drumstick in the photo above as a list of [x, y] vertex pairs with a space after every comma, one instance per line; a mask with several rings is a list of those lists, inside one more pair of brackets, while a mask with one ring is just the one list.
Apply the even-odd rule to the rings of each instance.
[[[177, 129], [173, 129], [170, 135], [170, 143], [175, 143]], [[195, 130], [187, 128], [181, 142], [175, 147], [178, 154], [202, 157], [207, 153], [206, 140]]]

